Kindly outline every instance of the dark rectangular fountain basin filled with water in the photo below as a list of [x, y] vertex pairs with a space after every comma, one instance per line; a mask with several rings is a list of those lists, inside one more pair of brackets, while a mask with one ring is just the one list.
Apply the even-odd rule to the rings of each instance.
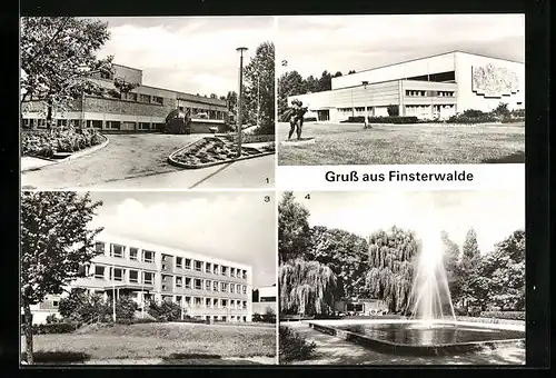
[[309, 325], [320, 332], [394, 355], [458, 355], [525, 342], [525, 327], [512, 325], [446, 321], [423, 325], [418, 320], [327, 320], [310, 321]]

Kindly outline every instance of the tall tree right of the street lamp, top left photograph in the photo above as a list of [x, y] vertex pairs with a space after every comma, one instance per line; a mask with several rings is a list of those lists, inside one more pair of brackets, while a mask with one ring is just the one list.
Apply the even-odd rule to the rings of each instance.
[[[260, 43], [255, 56], [245, 68], [245, 113], [244, 119], [252, 125], [275, 126], [275, 44]], [[244, 110], [244, 109], [242, 109]]]

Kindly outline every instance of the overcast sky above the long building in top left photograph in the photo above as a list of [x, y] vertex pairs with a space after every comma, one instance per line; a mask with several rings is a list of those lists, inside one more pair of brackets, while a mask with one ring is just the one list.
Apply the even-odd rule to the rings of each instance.
[[226, 96], [238, 88], [238, 47], [245, 63], [274, 41], [272, 17], [101, 17], [110, 40], [100, 54], [143, 70], [143, 84], [187, 93]]

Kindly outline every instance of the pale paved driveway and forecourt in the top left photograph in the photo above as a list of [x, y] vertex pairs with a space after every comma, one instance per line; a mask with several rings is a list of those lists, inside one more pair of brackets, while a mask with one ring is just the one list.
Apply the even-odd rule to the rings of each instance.
[[[90, 155], [22, 172], [22, 189], [271, 188], [275, 156], [185, 170], [168, 156], [205, 135], [109, 135]], [[267, 182], [268, 178], [268, 182]]]

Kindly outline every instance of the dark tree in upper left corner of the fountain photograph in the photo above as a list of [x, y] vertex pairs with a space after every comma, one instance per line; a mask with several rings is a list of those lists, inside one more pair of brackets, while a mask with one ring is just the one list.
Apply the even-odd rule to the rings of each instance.
[[278, 257], [285, 262], [302, 257], [310, 245], [309, 211], [297, 203], [291, 191], [278, 203]]

